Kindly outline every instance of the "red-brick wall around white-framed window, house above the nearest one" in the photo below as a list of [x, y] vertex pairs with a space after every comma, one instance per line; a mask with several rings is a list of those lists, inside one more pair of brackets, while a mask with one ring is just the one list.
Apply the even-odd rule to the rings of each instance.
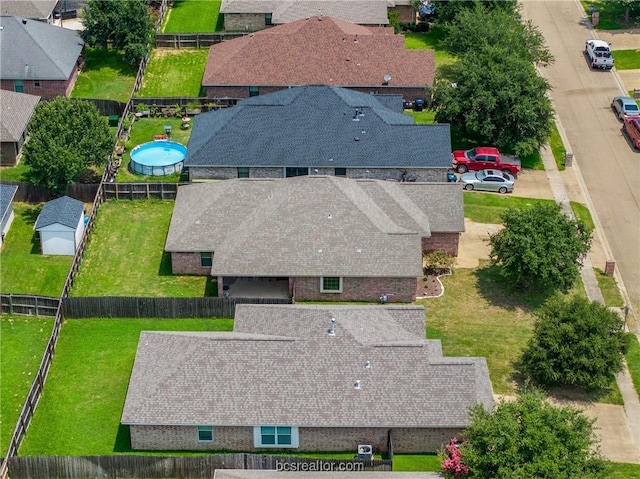
[[295, 278], [297, 301], [372, 301], [386, 294], [390, 302], [411, 303], [416, 299], [416, 278], [343, 278], [342, 293], [321, 293], [320, 278]]

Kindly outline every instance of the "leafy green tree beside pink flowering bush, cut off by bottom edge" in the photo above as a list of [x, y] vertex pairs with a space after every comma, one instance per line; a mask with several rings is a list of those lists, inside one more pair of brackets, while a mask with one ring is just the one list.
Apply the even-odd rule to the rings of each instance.
[[593, 420], [574, 407], [555, 407], [539, 391], [478, 405], [460, 446], [470, 478], [600, 479], [608, 464], [597, 452]]

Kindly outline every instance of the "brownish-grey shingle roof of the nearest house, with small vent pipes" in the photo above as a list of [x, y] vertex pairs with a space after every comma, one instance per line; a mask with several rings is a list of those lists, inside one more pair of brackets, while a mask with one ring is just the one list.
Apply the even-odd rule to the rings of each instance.
[[[484, 358], [439, 356], [439, 341], [411, 334], [395, 308], [238, 305], [236, 322], [251, 314], [265, 336], [142, 332], [122, 423], [467, 426], [471, 405], [493, 403]], [[422, 307], [407, 308], [424, 321]]]

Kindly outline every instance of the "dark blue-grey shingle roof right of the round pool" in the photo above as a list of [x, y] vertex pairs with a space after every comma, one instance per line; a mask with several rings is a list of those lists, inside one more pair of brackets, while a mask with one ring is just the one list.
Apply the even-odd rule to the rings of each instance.
[[195, 117], [185, 166], [447, 168], [451, 134], [375, 95], [302, 86]]

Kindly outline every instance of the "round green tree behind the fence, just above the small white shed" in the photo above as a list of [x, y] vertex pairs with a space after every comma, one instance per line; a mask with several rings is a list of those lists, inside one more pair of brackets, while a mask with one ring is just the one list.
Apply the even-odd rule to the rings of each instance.
[[111, 148], [108, 122], [93, 103], [57, 97], [36, 107], [23, 155], [32, 183], [63, 193], [88, 167], [104, 165]]

